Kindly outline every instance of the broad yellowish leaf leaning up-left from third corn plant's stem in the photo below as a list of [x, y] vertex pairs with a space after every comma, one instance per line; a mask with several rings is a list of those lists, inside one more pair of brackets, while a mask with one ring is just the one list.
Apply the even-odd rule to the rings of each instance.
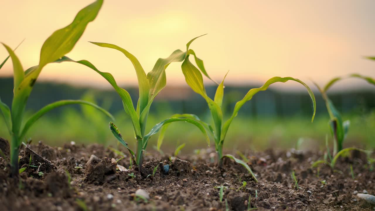
[[186, 56], [186, 59], [181, 65], [182, 73], [185, 76], [187, 85], [190, 88], [200, 94], [207, 102], [208, 107], [210, 108], [212, 118], [214, 120], [215, 130], [214, 137], [215, 143], [220, 139], [221, 126], [223, 115], [219, 105], [216, 104], [211, 98], [207, 96], [206, 90], [203, 84], [203, 77], [201, 72], [189, 61], [189, 56]]

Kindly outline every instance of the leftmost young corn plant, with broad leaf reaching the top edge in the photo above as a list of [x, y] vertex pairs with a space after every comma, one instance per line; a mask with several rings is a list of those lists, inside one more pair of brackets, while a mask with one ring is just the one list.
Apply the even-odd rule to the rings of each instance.
[[[9, 107], [1, 102], [0, 110], [6, 122], [9, 134], [11, 136], [10, 142], [10, 164], [11, 164], [11, 176], [17, 177], [19, 173], [18, 169], [18, 152], [22, 140], [24, 139], [28, 129], [34, 124], [37, 119], [43, 116], [46, 112], [60, 107], [62, 105], [69, 104], [87, 104], [91, 105], [106, 115], [113, 118], [108, 112], [101, 107], [87, 101], [81, 100], [62, 100], [46, 105], [38, 112], [34, 113], [26, 122], [24, 122], [24, 111], [28, 96], [30, 96], [31, 90], [37, 80], [37, 77], [48, 63], [59, 62], [59, 58], [69, 53], [78, 39], [83, 34], [87, 24], [93, 21], [102, 6], [103, 1], [98, 0], [91, 5], [83, 8], [78, 12], [74, 21], [63, 29], [55, 31], [48, 39], [44, 42], [42, 49], [40, 50], [39, 65], [33, 66], [24, 71], [20, 60], [15, 55], [13, 50], [7, 45], [3, 44], [9, 53], [10, 58], [13, 62], [13, 73], [14, 73], [14, 89], [13, 89], [13, 101], [12, 107]], [[23, 124], [24, 123], [24, 124]]]

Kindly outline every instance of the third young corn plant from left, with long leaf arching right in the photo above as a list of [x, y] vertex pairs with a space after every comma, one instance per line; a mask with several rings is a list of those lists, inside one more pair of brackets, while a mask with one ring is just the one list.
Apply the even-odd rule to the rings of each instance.
[[[239, 160], [239, 159], [235, 159], [235, 157], [233, 155], [223, 155], [223, 144], [224, 144], [225, 136], [226, 136], [226, 133], [228, 132], [228, 129], [229, 129], [229, 126], [230, 126], [231, 122], [237, 116], [239, 110], [245, 104], [245, 102], [251, 100], [252, 97], [256, 93], [258, 93], [260, 91], [267, 90], [267, 88], [273, 83], [276, 83], [276, 82], [284, 83], [284, 82], [287, 82], [289, 80], [296, 81], [296, 82], [302, 84], [308, 90], [308, 93], [309, 93], [309, 95], [312, 99], [313, 106], [314, 106], [314, 113], [313, 113], [313, 116], [312, 116], [312, 120], [314, 120], [315, 107], [316, 107], [314, 93], [311, 91], [310, 87], [307, 84], [303, 83], [301, 80], [298, 80], [296, 78], [292, 78], [292, 77], [284, 77], [284, 78], [273, 77], [273, 78], [270, 78], [268, 81], [266, 81], [266, 83], [263, 86], [261, 86], [259, 88], [250, 89], [249, 92], [245, 95], [245, 97], [242, 100], [240, 100], [236, 103], [236, 105], [234, 107], [234, 111], [233, 111], [232, 115], [230, 116], [230, 118], [228, 120], [226, 120], [225, 122], [223, 122], [224, 114], [222, 112], [222, 102], [223, 102], [223, 96], [224, 96], [224, 79], [225, 79], [225, 77], [222, 80], [222, 82], [219, 84], [219, 86], [217, 87], [214, 99], [211, 99], [210, 97], [208, 97], [207, 93], [206, 93], [206, 90], [204, 88], [203, 77], [202, 77], [201, 72], [207, 78], [209, 78], [209, 79], [211, 79], [211, 78], [208, 76], [207, 71], [204, 68], [203, 61], [196, 57], [196, 54], [193, 50], [189, 49], [190, 44], [191, 44], [191, 42], [187, 43], [187, 45], [186, 45], [187, 55], [186, 55], [186, 59], [183, 61], [182, 65], [181, 65], [181, 69], [182, 69], [182, 72], [185, 76], [186, 83], [190, 86], [190, 88], [194, 92], [201, 95], [206, 100], [206, 102], [208, 104], [208, 108], [211, 111], [212, 119], [213, 119], [213, 122], [214, 122], [214, 127], [211, 127], [211, 125], [201, 121], [196, 115], [192, 115], [192, 114], [176, 114], [173, 117], [186, 117], [186, 118], [195, 119], [196, 121], [198, 121], [202, 125], [204, 125], [206, 130], [209, 131], [210, 134], [214, 137], [215, 149], [216, 149], [216, 152], [217, 152], [217, 155], [218, 155], [219, 166], [220, 167], [222, 166], [223, 157], [229, 157], [231, 159], [234, 159], [237, 163], [240, 163], [241, 165], [245, 166], [249, 170], [249, 172], [251, 173], [251, 175], [253, 176], [255, 181], [257, 181], [254, 174], [251, 172], [250, 167], [245, 162], [243, 162], [242, 160]], [[193, 55], [195, 57], [195, 62], [196, 62], [196, 65], [198, 66], [199, 69], [196, 68], [190, 62], [190, 60], [189, 60], [190, 55]], [[157, 146], [161, 145], [165, 130], [166, 130], [166, 128], [163, 128], [162, 132], [160, 132], [159, 140], [158, 140], [159, 143], [157, 144]]]

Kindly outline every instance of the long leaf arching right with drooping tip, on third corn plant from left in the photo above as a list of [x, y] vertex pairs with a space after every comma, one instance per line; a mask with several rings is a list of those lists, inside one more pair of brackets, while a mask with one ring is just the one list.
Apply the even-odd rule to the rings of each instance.
[[311, 91], [310, 87], [303, 83], [301, 80], [298, 80], [297, 78], [292, 78], [292, 77], [285, 77], [285, 78], [282, 78], [282, 77], [273, 77], [273, 78], [270, 78], [266, 83], [264, 83], [263, 86], [259, 87], [259, 88], [254, 88], [254, 89], [250, 89], [249, 92], [245, 95], [245, 97], [238, 101], [236, 103], [236, 105], [234, 106], [234, 110], [233, 110], [233, 114], [231, 116], [231, 118], [229, 118], [225, 124], [223, 125], [223, 129], [222, 129], [222, 134], [221, 134], [221, 142], [225, 139], [225, 136], [226, 136], [226, 133], [228, 132], [228, 128], [229, 128], [229, 125], [231, 124], [232, 120], [234, 119], [234, 117], [237, 116], [240, 108], [242, 107], [243, 104], [245, 104], [245, 102], [251, 100], [251, 98], [258, 92], [260, 91], [264, 91], [264, 90], [267, 90], [267, 88], [273, 84], [273, 83], [276, 83], [276, 82], [282, 82], [282, 83], [285, 83], [289, 80], [292, 80], [292, 81], [296, 81], [300, 84], [302, 84], [303, 86], [305, 86], [305, 88], [307, 89], [310, 97], [311, 97], [311, 100], [312, 100], [312, 104], [313, 104], [313, 107], [314, 107], [314, 113], [312, 115], [312, 119], [311, 119], [311, 122], [314, 121], [314, 117], [315, 117], [315, 111], [316, 111], [316, 102], [315, 102], [315, 96], [314, 96], [314, 93]]

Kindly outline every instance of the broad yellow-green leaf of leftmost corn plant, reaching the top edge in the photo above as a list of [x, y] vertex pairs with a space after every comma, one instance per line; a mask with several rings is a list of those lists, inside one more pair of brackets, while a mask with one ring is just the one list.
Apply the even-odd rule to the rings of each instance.
[[19, 132], [20, 122], [25, 110], [27, 98], [30, 95], [33, 85], [42, 68], [46, 64], [59, 59], [73, 49], [74, 45], [86, 29], [87, 24], [93, 21], [96, 18], [96, 15], [98, 15], [102, 3], [103, 0], [97, 0], [91, 5], [83, 8], [78, 12], [71, 24], [63, 29], [55, 31], [46, 39], [40, 50], [38, 68], [28, 72], [18, 89], [14, 90], [12, 102], [12, 130], [14, 133], [17, 134]]

